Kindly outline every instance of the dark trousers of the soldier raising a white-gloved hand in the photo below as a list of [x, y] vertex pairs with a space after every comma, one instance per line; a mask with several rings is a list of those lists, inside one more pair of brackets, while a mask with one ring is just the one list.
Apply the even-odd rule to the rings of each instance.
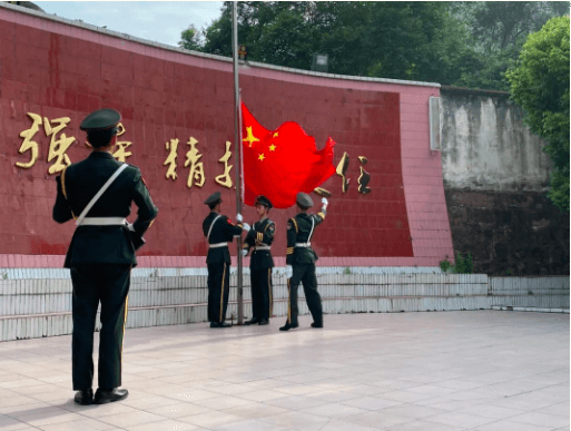
[[297, 325], [297, 287], [299, 282], [304, 286], [305, 301], [309, 313], [312, 313], [313, 321], [316, 325], [323, 325], [323, 310], [322, 297], [317, 292], [317, 277], [315, 276], [315, 264], [294, 264], [292, 278], [287, 281], [289, 290], [289, 301], [287, 307], [287, 323]]

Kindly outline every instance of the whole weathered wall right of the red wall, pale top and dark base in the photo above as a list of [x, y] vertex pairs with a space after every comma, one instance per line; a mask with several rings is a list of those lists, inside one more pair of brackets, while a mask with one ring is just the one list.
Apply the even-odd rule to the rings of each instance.
[[441, 89], [442, 167], [454, 252], [475, 273], [569, 274], [569, 214], [547, 197], [545, 145], [505, 92]]

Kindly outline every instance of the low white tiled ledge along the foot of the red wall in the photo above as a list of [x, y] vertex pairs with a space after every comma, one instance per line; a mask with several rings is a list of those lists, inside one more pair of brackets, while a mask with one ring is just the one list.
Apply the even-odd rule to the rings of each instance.
[[[206, 280], [206, 275], [131, 277], [127, 327], [205, 322]], [[569, 307], [569, 276], [318, 274], [317, 280], [326, 314]], [[232, 275], [228, 316], [237, 315], [236, 282]], [[274, 316], [282, 317], [287, 312], [285, 277], [276, 271], [273, 282]], [[249, 316], [247, 275], [244, 287]], [[301, 314], [308, 313], [302, 287], [298, 305]], [[69, 278], [0, 280], [0, 341], [63, 335], [71, 329]]]

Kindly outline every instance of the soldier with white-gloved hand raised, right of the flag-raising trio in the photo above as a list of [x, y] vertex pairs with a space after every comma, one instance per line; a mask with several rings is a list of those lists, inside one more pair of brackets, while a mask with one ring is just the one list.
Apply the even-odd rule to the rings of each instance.
[[307, 214], [313, 206], [312, 197], [305, 193], [298, 193], [296, 198], [297, 215], [287, 221], [287, 251], [286, 273], [289, 300], [287, 303], [287, 322], [279, 331], [289, 331], [299, 326], [297, 322], [297, 287], [302, 282], [305, 292], [307, 307], [313, 316], [312, 327], [323, 327], [322, 298], [317, 292], [317, 277], [315, 276], [315, 261], [317, 255], [312, 249], [312, 236], [315, 227], [325, 219], [327, 199], [322, 198], [322, 210]]

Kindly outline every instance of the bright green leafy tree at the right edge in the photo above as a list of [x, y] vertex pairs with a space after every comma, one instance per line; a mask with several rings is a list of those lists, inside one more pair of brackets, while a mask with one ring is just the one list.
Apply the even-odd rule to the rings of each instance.
[[543, 150], [553, 161], [550, 198], [569, 212], [569, 17], [553, 18], [531, 33], [506, 78], [525, 123], [548, 141]]

